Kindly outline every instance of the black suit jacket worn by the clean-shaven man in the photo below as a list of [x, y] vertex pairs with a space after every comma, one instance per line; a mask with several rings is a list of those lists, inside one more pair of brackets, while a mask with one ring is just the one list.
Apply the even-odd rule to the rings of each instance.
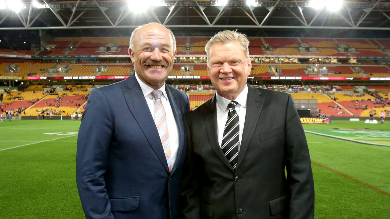
[[218, 145], [216, 96], [187, 113], [185, 120], [183, 218], [314, 217], [310, 157], [291, 95], [248, 85], [235, 171]]

